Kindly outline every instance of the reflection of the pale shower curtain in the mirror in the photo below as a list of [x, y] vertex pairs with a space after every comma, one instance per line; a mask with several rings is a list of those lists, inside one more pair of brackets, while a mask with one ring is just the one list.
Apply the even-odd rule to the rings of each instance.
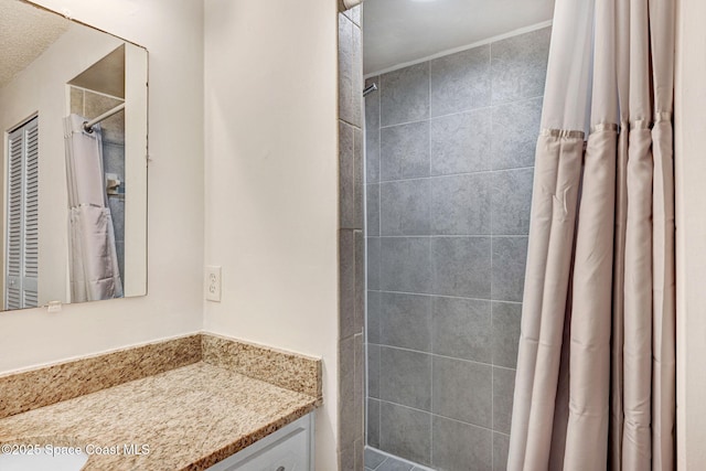
[[100, 126], [84, 131], [85, 118], [64, 118], [68, 184], [71, 301], [121, 298], [115, 231], [103, 171]]

